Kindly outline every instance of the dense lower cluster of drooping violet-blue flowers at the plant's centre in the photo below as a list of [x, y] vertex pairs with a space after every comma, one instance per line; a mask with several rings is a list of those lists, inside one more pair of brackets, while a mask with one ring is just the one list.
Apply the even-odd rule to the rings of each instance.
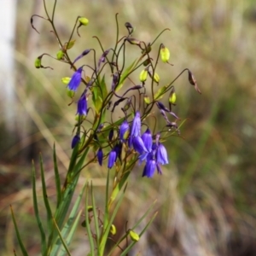
[[[108, 155], [108, 168], [113, 167], [120, 157], [123, 143], [127, 143], [129, 148], [133, 148], [139, 154], [140, 163], [146, 161], [143, 177], [153, 177], [155, 170], [161, 174], [160, 165], [168, 164], [168, 156], [165, 146], [159, 142], [159, 139], [160, 134], [156, 134], [155, 140], [153, 140], [149, 128], [141, 135], [141, 117], [137, 111], [131, 127], [126, 119], [119, 126], [119, 143], [116, 143]], [[97, 159], [102, 165], [102, 148], [97, 152]]]

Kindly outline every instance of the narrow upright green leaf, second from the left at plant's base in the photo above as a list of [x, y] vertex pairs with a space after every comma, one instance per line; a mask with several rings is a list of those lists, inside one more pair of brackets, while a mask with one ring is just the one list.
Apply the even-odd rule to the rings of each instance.
[[40, 230], [41, 235], [41, 253], [42, 255], [45, 255], [47, 247], [46, 247], [46, 240], [45, 240], [45, 232], [44, 227], [39, 215], [38, 211], [38, 198], [37, 198], [37, 189], [36, 189], [36, 170], [34, 166], [34, 162], [32, 161], [32, 195], [33, 195], [33, 206], [34, 206], [34, 212], [37, 218], [38, 222], [38, 228]]

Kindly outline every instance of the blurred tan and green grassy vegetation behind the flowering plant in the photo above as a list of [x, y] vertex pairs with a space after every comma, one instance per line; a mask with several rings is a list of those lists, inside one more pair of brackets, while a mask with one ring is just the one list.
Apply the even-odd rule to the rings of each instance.
[[[38, 230], [32, 230], [35, 220], [30, 162], [32, 158], [38, 162], [42, 152], [48, 165], [49, 195], [53, 195], [51, 148], [56, 142], [65, 172], [76, 111], [67, 106], [65, 85], [61, 84], [62, 77], [71, 75], [69, 67], [57, 66], [50, 58], [45, 58], [44, 63], [54, 67], [54, 71], [33, 66], [38, 55], [55, 55], [58, 50], [46, 22], [34, 21], [44, 36], [38, 36], [30, 26], [34, 12], [44, 14], [39, 2], [18, 2], [14, 72], [17, 101], [13, 106], [17, 130], [9, 134], [1, 123], [0, 132], [3, 255], [13, 255], [15, 248], [10, 203], [18, 213], [31, 255], [38, 253]], [[48, 2], [50, 6], [51, 1]], [[55, 25], [61, 38], [68, 40], [78, 15], [90, 20], [90, 25], [80, 31], [81, 38], [76, 36], [77, 47], [71, 52], [76, 57], [84, 49], [98, 47], [96, 39], [88, 35], [100, 34], [108, 49], [115, 40], [109, 35], [115, 30], [116, 13], [120, 33], [125, 32], [125, 21], [130, 21], [137, 27], [134, 36], [147, 38], [148, 42], [162, 29], [170, 28], [171, 32], [165, 32], [157, 42], [166, 42], [174, 64], [169, 73], [158, 71], [161, 83], [189, 67], [202, 92], [199, 96], [188, 87], [186, 75], [177, 79], [174, 108], [179, 117], [188, 118], [181, 129], [183, 138], [172, 137], [170, 145], [166, 145], [171, 164], [162, 176], [142, 178], [142, 166], [137, 166], [123, 212], [116, 220], [117, 230], [125, 228], [126, 220], [132, 223], [139, 218], [157, 199], [158, 217], [148, 235], [135, 247], [140, 255], [255, 255], [255, 4], [249, 0], [60, 0]], [[93, 178], [97, 195], [104, 191], [106, 170], [92, 166], [83, 173], [84, 178]], [[100, 195], [97, 200], [100, 205]], [[84, 233], [80, 227], [73, 255], [86, 252]]]

